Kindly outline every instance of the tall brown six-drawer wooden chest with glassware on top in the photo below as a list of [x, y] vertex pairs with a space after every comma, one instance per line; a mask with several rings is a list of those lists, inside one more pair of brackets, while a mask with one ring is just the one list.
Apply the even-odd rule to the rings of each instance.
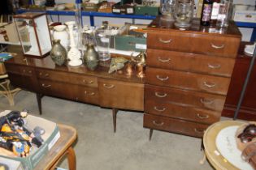
[[[234, 23], [215, 33], [154, 19], [148, 28], [143, 125], [201, 138], [219, 121], [241, 33]], [[212, 32], [214, 28], [210, 31]]]

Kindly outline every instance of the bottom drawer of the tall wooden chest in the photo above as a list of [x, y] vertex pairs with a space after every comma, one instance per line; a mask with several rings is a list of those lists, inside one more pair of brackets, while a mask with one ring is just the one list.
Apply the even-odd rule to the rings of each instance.
[[144, 114], [143, 126], [145, 128], [154, 130], [164, 130], [177, 134], [185, 134], [202, 138], [204, 131], [209, 125], [184, 121], [171, 117], [158, 117], [150, 114]]

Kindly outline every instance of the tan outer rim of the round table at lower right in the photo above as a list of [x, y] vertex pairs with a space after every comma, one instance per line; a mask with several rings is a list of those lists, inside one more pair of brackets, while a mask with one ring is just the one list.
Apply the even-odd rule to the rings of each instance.
[[218, 149], [215, 144], [215, 139], [217, 138], [217, 135], [219, 134], [220, 130], [223, 130], [228, 126], [242, 124], [244, 124], [244, 122], [242, 121], [219, 121], [213, 125], [210, 125], [210, 127], [206, 130], [203, 136], [204, 150], [207, 159], [215, 169], [238, 170], [238, 168], [230, 164], [228, 160], [223, 157], [223, 155], [216, 154], [219, 152], [216, 152], [218, 151]]

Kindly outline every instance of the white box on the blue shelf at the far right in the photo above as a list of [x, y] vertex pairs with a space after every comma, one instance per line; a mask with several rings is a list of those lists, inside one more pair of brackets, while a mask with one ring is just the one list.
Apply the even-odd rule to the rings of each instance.
[[256, 23], [256, 11], [235, 11], [234, 21]]

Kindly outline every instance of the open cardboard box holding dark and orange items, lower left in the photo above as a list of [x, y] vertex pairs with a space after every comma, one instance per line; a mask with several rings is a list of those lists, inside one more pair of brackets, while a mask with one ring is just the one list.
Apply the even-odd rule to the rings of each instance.
[[[10, 113], [10, 111], [0, 113], [0, 117], [6, 115], [7, 113]], [[30, 155], [24, 158], [7, 156], [2, 152], [0, 152], [0, 157], [20, 161], [24, 167], [24, 170], [33, 170], [43, 156], [46, 155], [51, 147], [54, 146], [54, 143], [57, 142], [60, 134], [58, 126], [53, 121], [47, 121], [46, 119], [34, 117], [32, 115], [28, 115], [25, 120], [28, 122], [27, 126], [31, 129], [37, 125], [40, 125], [41, 128], [46, 130], [46, 133], [41, 136], [41, 138], [44, 139], [44, 143], [39, 148], [33, 147], [33, 151], [30, 151], [29, 153]]]

